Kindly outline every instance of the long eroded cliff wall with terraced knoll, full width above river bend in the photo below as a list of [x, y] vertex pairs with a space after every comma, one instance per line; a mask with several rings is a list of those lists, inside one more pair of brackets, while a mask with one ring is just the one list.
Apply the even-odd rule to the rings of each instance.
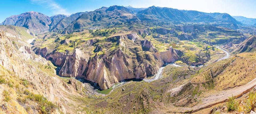
[[92, 39], [83, 46], [93, 47], [95, 54], [81, 48], [51, 52], [52, 49], [34, 47], [34, 51], [58, 66], [59, 75], [98, 83], [102, 90], [125, 79], [153, 76], [164, 62], [178, 60], [175, 50], [159, 53], [150, 41], [136, 33], [116, 34], [104, 41]]

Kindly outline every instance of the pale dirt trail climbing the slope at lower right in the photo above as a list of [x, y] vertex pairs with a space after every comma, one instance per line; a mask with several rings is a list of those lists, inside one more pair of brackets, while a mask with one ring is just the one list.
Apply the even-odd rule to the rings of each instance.
[[227, 99], [230, 96], [235, 96], [237, 98], [243, 96], [247, 92], [251, 91], [254, 87], [256, 86], [256, 78], [250, 81], [249, 83], [239, 86], [239, 87], [234, 87], [229, 90], [223, 90], [219, 91], [218, 93], [211, 94], [209, 96], [206, 96], [201, 99], [201, 103], [194, 106], [194, 107], [184, 107], [184, 108], [178, 108], [179, 111], [186, 112], [186, 111], [192, 111], [192, 113], [200, 111], [205, 108], [210, 108], [214, 105], [224, 103], [227, 101]]

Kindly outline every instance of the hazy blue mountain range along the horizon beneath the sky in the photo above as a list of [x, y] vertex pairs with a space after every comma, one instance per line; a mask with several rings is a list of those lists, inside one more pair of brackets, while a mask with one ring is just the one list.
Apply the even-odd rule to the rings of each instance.
[[6, 18], [2, 25], [14, 25], [31, 29], [35, 33], [58, 30], [80, 30], [91, 27], [115, 25], [118, 23], [141, 22], [173, 23], [218, 23], [231, 28], [243, 25], [227, 13], [205, 13], [193, 10], [178, 10], [167, 7], [134, 8], [131, 6], [110, 6], [90, 12], [78, 12], [70, 16], [46, 16], [39, 12], [26, 12]]

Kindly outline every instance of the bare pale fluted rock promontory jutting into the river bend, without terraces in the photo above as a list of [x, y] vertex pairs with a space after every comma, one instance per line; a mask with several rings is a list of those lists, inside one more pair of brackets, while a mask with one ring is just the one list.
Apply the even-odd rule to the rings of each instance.
[[152, 76], [157, 73], [163, 62], [161, 60], [158, 61], [153, 55], [146, 54], [146, 56], [148, 57], [144, 60], [143, 56], [138, 54], [138, 62], [155, 61], [155, 65], [145, 62], [135, 65], [134, 69], [130, 69], [133, 67], [133, 64], [129, 63], [131, 58], [121, 49], [118, 49], [113, 57], [107, 57], [106, 54], [96, 54], [90, 58], [85, 72], [79, 77], [98, 83], [101, 89], [104, 90], [125, 79]]

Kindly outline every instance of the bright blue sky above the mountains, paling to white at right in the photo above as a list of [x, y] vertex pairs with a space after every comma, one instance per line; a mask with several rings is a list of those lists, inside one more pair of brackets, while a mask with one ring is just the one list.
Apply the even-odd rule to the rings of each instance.
[[133, 7], [170, 7], [180, 10], [221, 12], [232, 16], [256, 18], [255, 0], [0, 0], [0, 22], [11, 15], [28, 11], [41, 12], [48, 16], [70, 15], [76, 12], [93, 11], [112, 5]]

